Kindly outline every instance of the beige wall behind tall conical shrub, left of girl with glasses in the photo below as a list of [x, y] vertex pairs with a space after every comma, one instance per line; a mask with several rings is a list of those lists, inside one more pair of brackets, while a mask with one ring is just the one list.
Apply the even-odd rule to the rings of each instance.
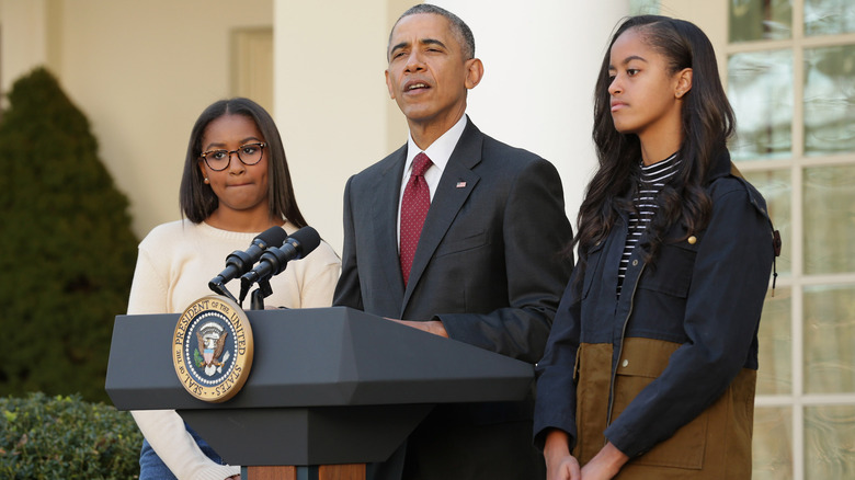
[[3, 85], [48, 64], [89, 116], [141, 237], [180, 218], [190, 129], [205, 106], [230, 94], [230, 28], [271, 26], [272, 3], [2, 0]]

